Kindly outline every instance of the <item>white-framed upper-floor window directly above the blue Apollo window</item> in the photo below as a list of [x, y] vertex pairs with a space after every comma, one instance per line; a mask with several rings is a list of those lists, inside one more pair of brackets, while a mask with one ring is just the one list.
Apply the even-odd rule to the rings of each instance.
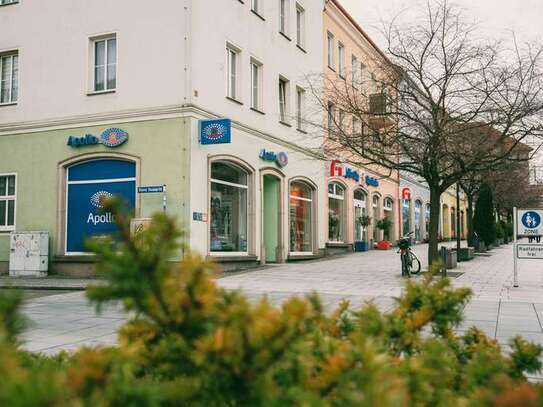
[[94, 91], [103, 92], [117, 87], [117, 38], [93, 40]]

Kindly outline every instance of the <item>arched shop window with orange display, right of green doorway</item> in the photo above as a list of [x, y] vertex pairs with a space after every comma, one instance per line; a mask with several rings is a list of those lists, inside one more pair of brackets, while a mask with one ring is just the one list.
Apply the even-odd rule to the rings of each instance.
[[313, 252], [313, 188], [301, 181], [290, 184], [290, 252]]

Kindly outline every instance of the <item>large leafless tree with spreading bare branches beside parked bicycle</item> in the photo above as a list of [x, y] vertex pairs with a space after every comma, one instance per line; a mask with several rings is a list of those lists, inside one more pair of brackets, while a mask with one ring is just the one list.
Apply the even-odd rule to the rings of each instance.
[[441, 194], [467, 174], [527, 159], [515, 154], [518, 143], [542, 135], [543, 53], [478, 40], [476, 27], [446, 1], [398, 21], [385, 26], [386, 50], [367, 61], [366, 73], [324, 75], [311, 86], [328, 112], [320, 126], [329, 156], [427, 182], [433, 262]]

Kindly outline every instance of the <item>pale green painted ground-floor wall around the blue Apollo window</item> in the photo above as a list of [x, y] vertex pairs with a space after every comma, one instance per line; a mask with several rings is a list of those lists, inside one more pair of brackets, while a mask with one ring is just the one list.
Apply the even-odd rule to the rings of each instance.
[[[102, 145], [73, 148], [69, 136], [100, 135], [110, 127], [127, 131], [129, 139], [117, 148]], [[0, 173], [17, 173], [16, 227], [18, 231], [46, 230], [50, 254], [56, 254], [59, 163], [89, 153], [114, 152], [139, 157], [141, 185], [166, 184], [168, 213], [180, 223], [188, 220], [189, 137], [184, 119], [163, 119], [106, 126], [78, 127], [39, 133], [0, 136]], [[141, 216], [162, 210], [162, 194], [142, 195]], [[9, 234], [0, 233], [0, 261], [9, 258]]]

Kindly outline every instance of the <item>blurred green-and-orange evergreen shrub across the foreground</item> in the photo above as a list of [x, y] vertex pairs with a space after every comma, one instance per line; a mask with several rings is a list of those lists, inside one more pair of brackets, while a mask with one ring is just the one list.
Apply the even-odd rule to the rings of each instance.
[[[115, 210], [115, 208], [113, 208]], [[525, 375], [542, 349], [521, 338], [505, 355], [476, 328], [454, 328], [470, 297], [427, 274], [388, 313], [347, 302], [331, 314], [317, 295], [273, 307], [219, 288], [215, 267], [185, 251], [156, 215], [130, 238], [93, 243], [105, 286], [100, 308], [130, 318], [116, 348], [39, 357], [18, 350], [20, 297], [0, 299], [0, 405], [47, 406], [531, 406], [543, 392]], [[24, 394], [23, 394], [24, 393]]]

